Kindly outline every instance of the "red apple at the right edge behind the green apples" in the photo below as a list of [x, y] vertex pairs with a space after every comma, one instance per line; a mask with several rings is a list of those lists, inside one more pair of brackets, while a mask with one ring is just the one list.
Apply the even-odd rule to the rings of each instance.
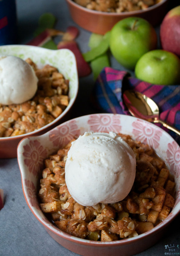
[[171, 9], [160, 26], [162, 49], [180, 57], [180, 5]]

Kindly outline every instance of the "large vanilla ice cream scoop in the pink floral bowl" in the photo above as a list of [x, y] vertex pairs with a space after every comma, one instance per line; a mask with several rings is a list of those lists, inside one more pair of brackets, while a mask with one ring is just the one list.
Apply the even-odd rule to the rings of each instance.
[[67, 154], [67, 188], [83, 206], [123, 200], [133, 186], [135, 174], [133, 150], [114, 132], [85, 132], [72, 142]]

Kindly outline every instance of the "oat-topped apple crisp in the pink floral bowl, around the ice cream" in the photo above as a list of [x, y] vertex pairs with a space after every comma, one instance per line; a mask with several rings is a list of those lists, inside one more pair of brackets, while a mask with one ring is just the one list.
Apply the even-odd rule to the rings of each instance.
[[71, 141], [44, 160], [38, 193], [40, 207], [60, 230], [88, 240], [114, 241], [152, 229], [171, 212], [175, 182], [164, 161], [149, 145], [134, 141], [129, 135], [118, 135], [136, 156], [133, 187], [120, 202], [82, 206], [72, 198], [64, 171]]

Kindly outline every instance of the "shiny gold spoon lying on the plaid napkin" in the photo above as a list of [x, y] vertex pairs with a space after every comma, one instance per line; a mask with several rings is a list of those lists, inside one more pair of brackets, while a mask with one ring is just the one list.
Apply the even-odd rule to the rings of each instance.
[[156, 103], [146, 95], [134, 90], [123, 93], [124, 102], [132, 116], [145, 119], [153, 123], [161, 123], [164, 127], [180, 135], [175, 127], [159, 119], [159, 108]]

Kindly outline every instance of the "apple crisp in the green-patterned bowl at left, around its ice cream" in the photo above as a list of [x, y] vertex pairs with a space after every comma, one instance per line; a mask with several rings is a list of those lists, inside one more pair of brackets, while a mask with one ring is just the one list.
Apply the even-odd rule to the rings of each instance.
[[69, 81], [56, 67], [38, 68], [28, 58], [38, 77], [34, 97], [21, 104], [0, 104], [0, 137], [17, 136], [38, 130], [56, 119], [69, 104]]

